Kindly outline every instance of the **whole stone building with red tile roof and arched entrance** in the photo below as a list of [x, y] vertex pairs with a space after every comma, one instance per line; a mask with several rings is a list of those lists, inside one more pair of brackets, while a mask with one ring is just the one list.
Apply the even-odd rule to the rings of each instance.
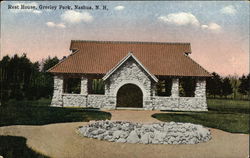
[[70, 50], [48, 70], [51, 106], [207, 110], [211, 75], [189, 57], [190, 43], [73, 40]]

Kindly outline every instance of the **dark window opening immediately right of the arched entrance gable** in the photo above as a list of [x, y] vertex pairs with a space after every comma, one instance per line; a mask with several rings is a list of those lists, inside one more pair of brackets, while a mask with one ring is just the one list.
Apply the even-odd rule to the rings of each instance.
[[172, 79], [160, 79], [156, 85], [158, 96], [171, 96]]

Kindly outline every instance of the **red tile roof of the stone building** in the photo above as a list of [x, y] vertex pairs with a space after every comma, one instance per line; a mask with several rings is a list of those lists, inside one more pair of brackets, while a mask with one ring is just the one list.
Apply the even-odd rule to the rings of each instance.
[[52, 67], [52, 73], [106, 74], [129, 52], [154, 75], [211, 76], [185, 53], [190, 43], [71, 41], [74, 53]]

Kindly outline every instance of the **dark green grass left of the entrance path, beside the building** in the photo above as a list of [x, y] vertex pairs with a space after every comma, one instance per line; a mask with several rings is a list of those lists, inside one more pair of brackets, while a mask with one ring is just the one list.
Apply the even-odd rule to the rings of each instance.
[[[37, 102], [41, 103], [41, 101]], [[110, 113], [99, 111], [98, 109], [57, 108], [49, 107], [49, 104], [34, 105], [33, 102], [31, 105], [26, 105], [25, 102], [23, 104], [20, 103], [20, 105], [14, 105], [10, 102], [8, 105], [0, 107], [0, 126], [87, 122], [90, 120], [106, 120], [111, 118]]]

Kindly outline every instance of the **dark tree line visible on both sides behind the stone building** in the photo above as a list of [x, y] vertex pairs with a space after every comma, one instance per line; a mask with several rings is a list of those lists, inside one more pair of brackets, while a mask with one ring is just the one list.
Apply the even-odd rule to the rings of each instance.
[[[58, 62], [57, 57], [31, 62], [26, 54], [4, 56], [0, 61], [1, 103], [9, 99], [51, 98], [54, 82], [53, 75], [47, 70]], [[250, 74], [221, 77], [213, 72], [212, 75], [206, 84], [208, 97], [249, 99]]]

